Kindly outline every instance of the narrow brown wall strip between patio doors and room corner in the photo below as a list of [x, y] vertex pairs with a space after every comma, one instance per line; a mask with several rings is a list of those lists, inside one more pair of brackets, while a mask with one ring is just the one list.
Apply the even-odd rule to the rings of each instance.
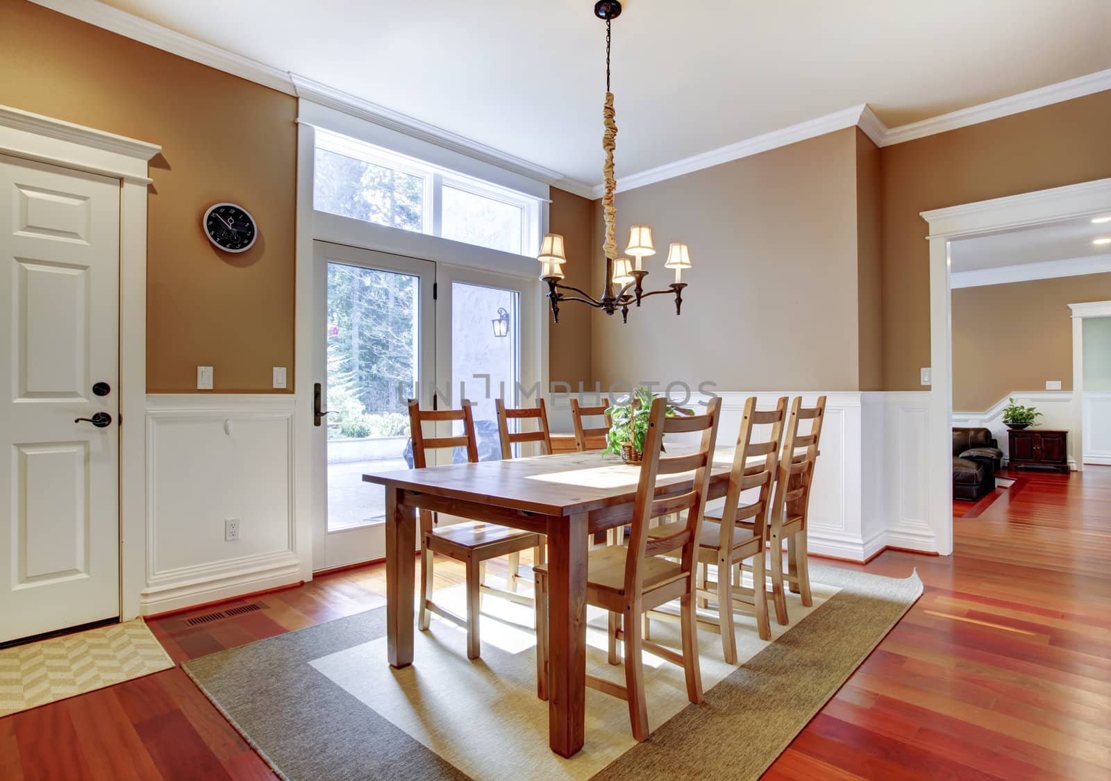
[[[549, 230], [564, 239], [568, 262], [563, 266], [563, 282], [591, 291], [591, 256], [594, 204], [589, 199], [552, 188], [549, 211]], [[539, 273], [539, 263], [537, 264]], [[548, 299], [543, 301], [548, 309]], [[572, 391], [579, 383], [592, 388], [591, 310], [579, 303], [560, 307], [559, 322], [551, 322], [548, 314], [548, 377], [551, 382], [565, 382]]]

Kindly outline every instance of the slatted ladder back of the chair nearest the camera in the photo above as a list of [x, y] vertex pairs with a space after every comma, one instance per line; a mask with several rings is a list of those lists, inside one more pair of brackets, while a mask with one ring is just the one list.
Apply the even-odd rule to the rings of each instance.
[[[644, 457], [640, 465], [640, 481], [637, 484], [637, 499], [633, 503], [632, 535], [629, 539], [629, 553], [625, 558], [624, 588], [627, 594], [639, 594], [643, 585], [642, 562], [648, 555], [657, 555], [682, 548], [680, 559], [682, 572], [689, 575], [693, 589], [694, 563], [698, 553], [698, 534], [705, 510], [705, 494], [710, 484], [710, 471], [713, 464], [713, 447], [718, 438], [718, 422], [721, 417], [721, 399], [710, 401], [705, 414], [695, 418], [667, 418], [667, 399], [655, 399], [649, 410], [648, 434], [644, 438]], [[661, 461], [687, 463], [690, 455], [662, 459], [660, 445], [663, 434], [672, 430], [668, 423], [674, 420], [698, 420], [701, 428], [683, 427], [683, 431], [701, 431], [695, 459], [701, 465], [694, 469], [693, 485], [690, 491], [675, 497], [655, 500], [655, 481], [660, 474]], [[685, 470], [689, 471], [688, 467]], [[687, 521], [674, 534], [655, 538], [649, 542], [648, 523], [657, 514], [675, 512], [687, 509]]]

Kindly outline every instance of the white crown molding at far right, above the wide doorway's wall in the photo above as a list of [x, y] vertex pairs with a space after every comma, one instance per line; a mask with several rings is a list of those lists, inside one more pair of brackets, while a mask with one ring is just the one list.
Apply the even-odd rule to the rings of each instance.
[[[1022, 113], [1031, 109], [1040, 109], [1043, 106], [1061, 103], [1065, 100], [1082, 98], [1085, 94], [1102, 92], [1104, 90], [1111, 90], [1111, 69], [1049, 84], [1048, 87], [1041, 87], [1029, 92], [1020, 92], [1008, 98], [1000, 98], [989, 103], [959, 109], [947, 114], [941, 114], [940, 117], [923, 119], [920, 122], [900, 124], [898, 128], [885, 130], [882, 141], [875, 141], [875, 143], [880, 147], [890, 147], [891, 144], [913, 141], [914, 139], [957, 130], [958, 128], [967, 128], [970, 124], [979, 124], [992, 119], [1010, 117], [1011, 114]], [[875, 139], [872, 140], [874, 141]]]

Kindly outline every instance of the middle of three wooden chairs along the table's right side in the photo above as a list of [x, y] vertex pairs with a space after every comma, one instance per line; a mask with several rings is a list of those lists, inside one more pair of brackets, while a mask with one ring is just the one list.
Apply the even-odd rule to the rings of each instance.
[[[737, 637], [733, 611], [738, 605], [751, 611], [757, 619], [761, 640], [771, 640], [768, 620], [768, 585], [764, 559], [769, 538], [769, 518], [779, 465], [779, 447], [787, 418], [787, 397], [780, 398], [773, 410], [757, 410], [757, 398], [744, 402], [741, 428], [733, 451], [733, 468], [729, 474], [725, 503], [707, 511], [699, 537], [698, 560], [702, 568], [698, 597], [717, 599], [718, 621], [699, 617], [699, 621], [721, 633], [721, 648], [729, 664], [737, 664]], [[767, 438], [757, 438], [757, 425], [770, 425]], [[754, 495], [753, 495], [754, 492]], [[658, 529], [649, 531], [658, 535]], [[752, 588], [741, 584], [744, 562], [751, 561]], [[717, 567], [717, 580], [709, 580], [708, 570]], [[651, 618], [669, 619], [669, 613], [652, 612]]]

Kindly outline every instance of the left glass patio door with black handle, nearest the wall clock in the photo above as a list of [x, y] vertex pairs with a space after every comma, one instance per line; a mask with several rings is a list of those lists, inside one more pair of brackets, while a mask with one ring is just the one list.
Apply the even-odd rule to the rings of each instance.
[[[386, 493], [362, 474], [407, 469], [406, 400], [432, 403], [436, 264], [316, 242], [313, 569], [386, 557]], [[416, 543], [416, 541], [414, 541]]]

